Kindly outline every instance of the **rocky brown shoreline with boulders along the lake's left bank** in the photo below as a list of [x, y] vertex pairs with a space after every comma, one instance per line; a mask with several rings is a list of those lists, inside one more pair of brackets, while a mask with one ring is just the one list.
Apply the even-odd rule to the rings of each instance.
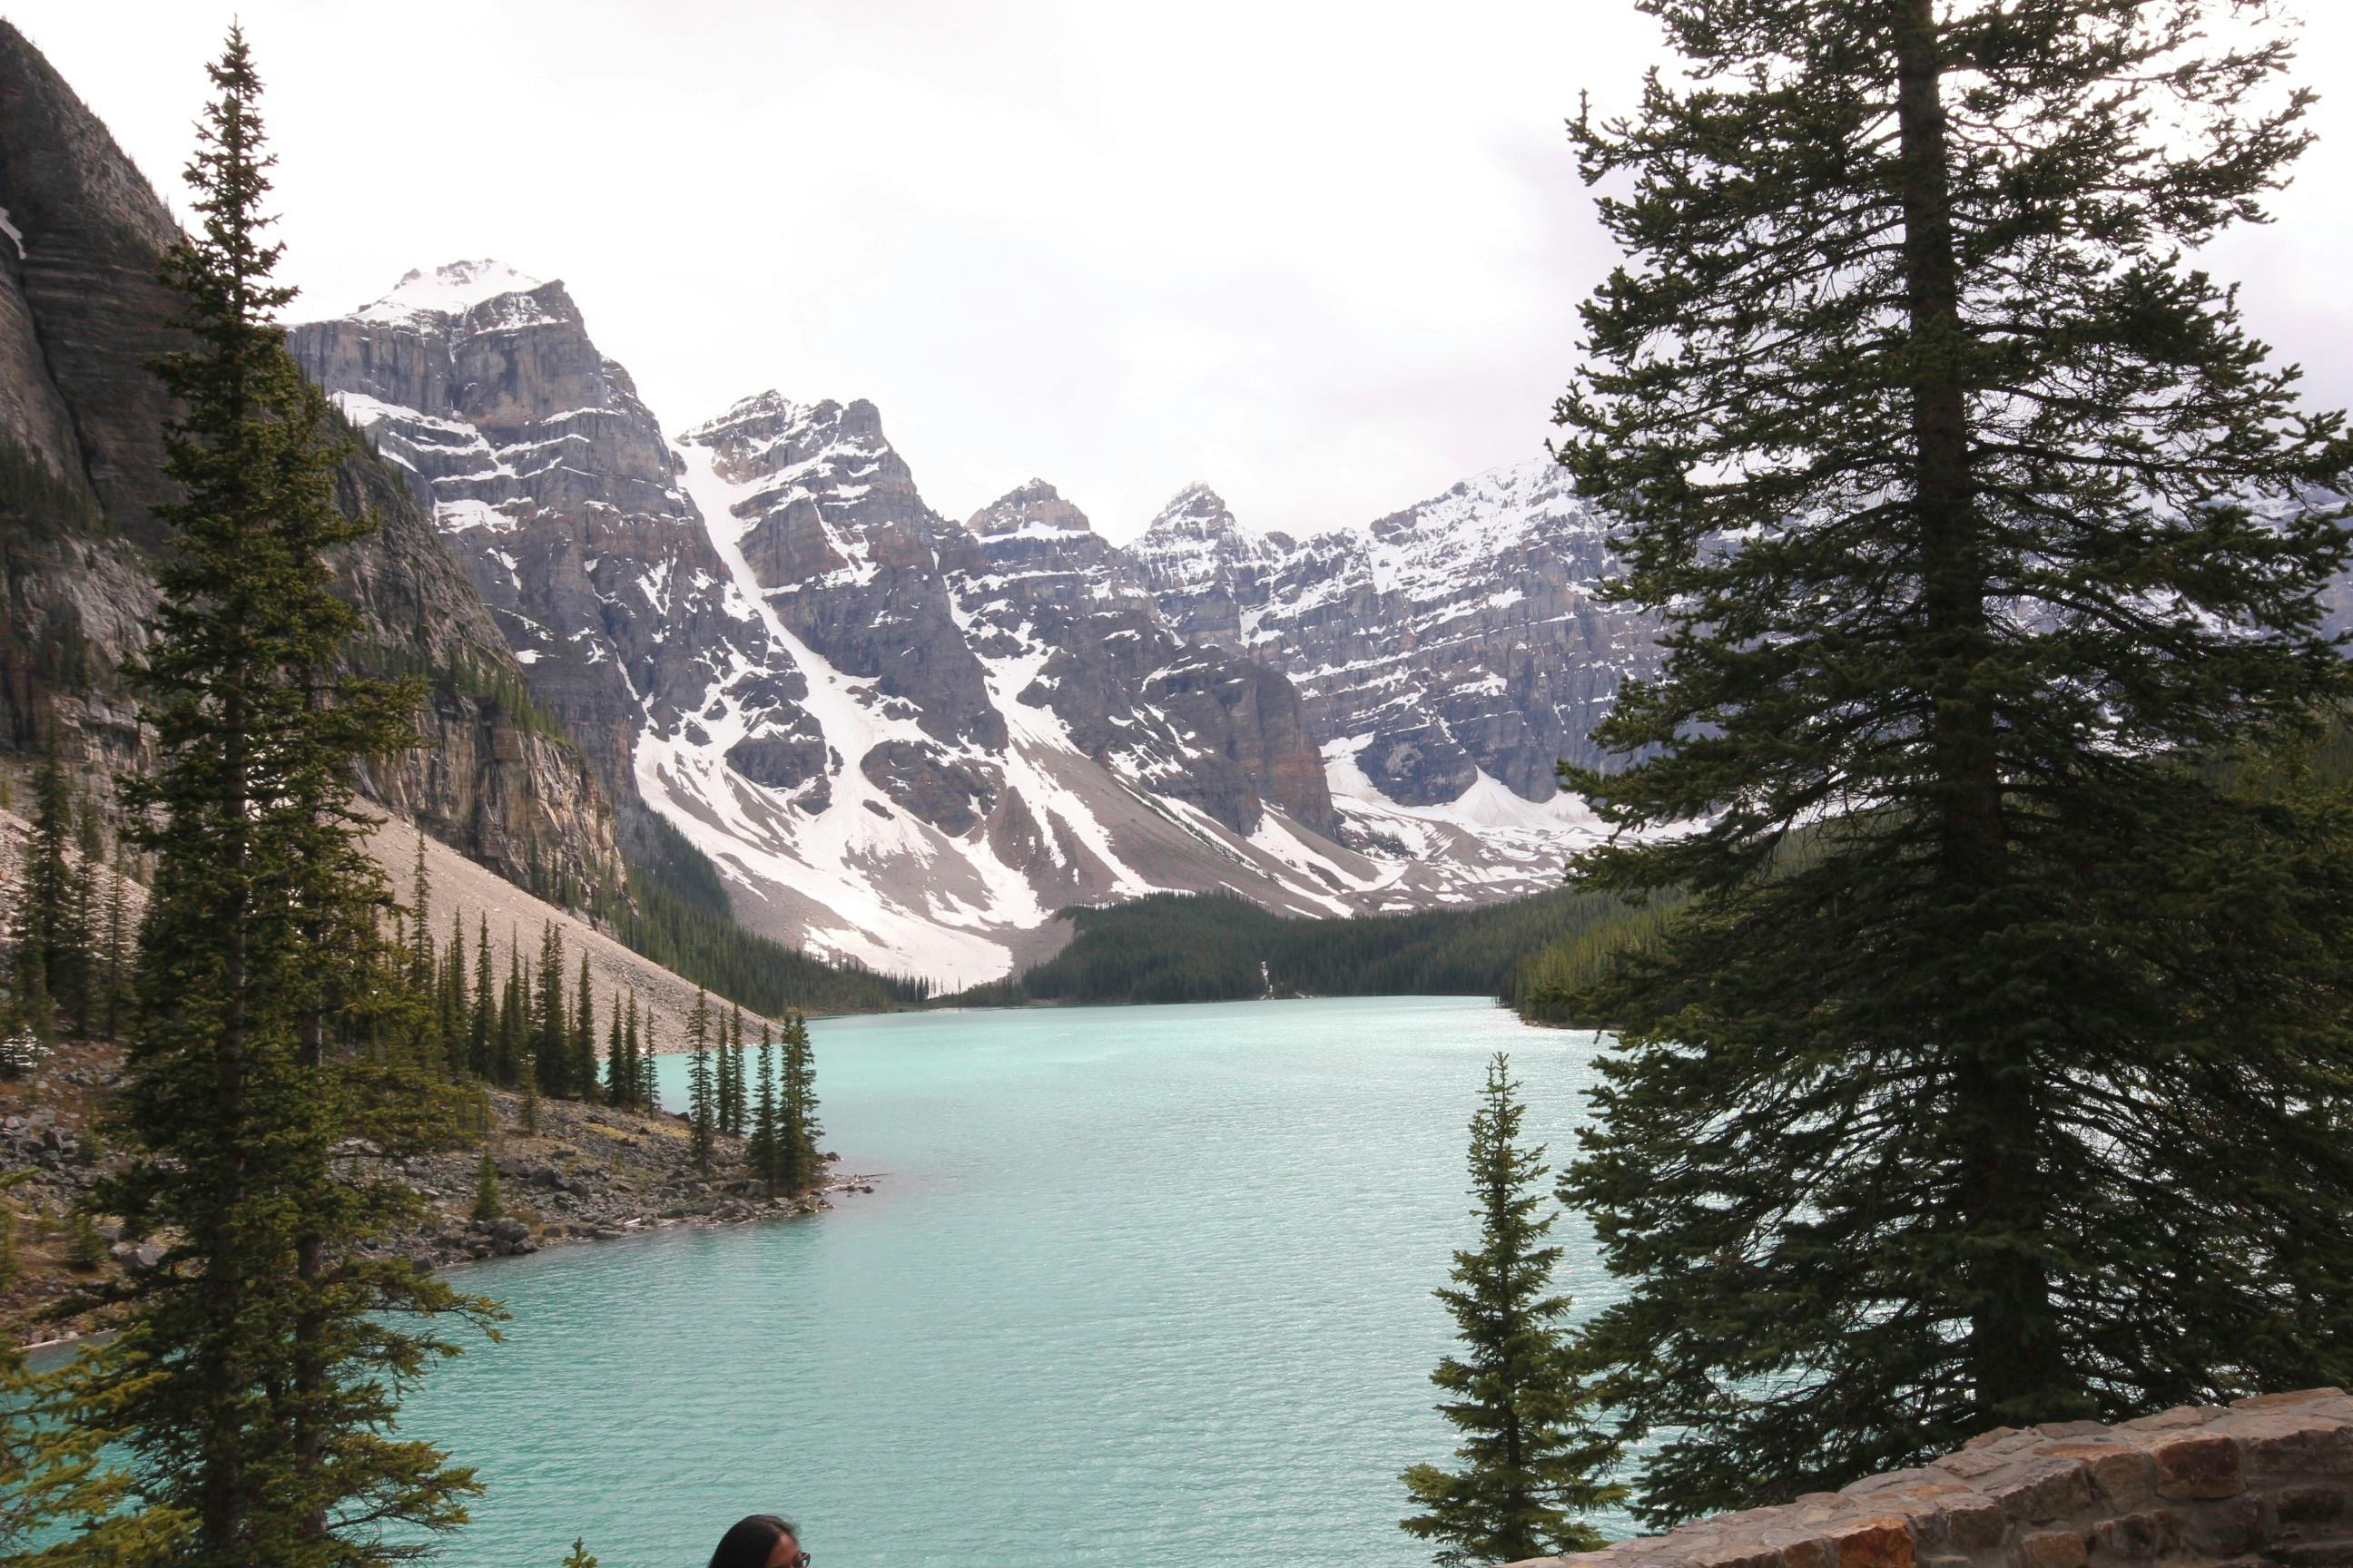
[[[82, 1258], [73, 1255], [73, 1213], [115, 1164], [94, 1126], [118, 1063], [108, 1046], [68, 1044], [33, 1081], [0, 1081], [0, 1175], [26, 1173], [0, 1197], [16, 1211], [16, 1276], [0, 1284], [0, 1333], [16, 1342], [54, 1345], [104, 1328], [92, 1314], [66, 1314], [71, 1295], [111, 1274], [153, 1267], [162, 1255], [153, 1241], [125, 1241], [113, 1220], [96, 1222], [96, 1255], [87, 1241]], [[824, 1185], [772, 1204], [744, 1175], [741, 1138], [722, 1135], [713, 1173], [696, 1171], [685, 1117], [541, 1100], [536, 1131], [527, 1133], [520, 1095], [492, 1091], [489, 1110], [501, 1208], [494, 1220], [473, 1218], [480, 1143], [419, 1154], [386, 1154], [362, 1140], [344, 1145], [353, 1175], [391, 1175], [428, 1211], [414, 1232], [379, 1241], [379, 1255], [445, 1269], [680, 1225], [793, 1220], [875, 1185], [875, 1175], [845, 1173], [828, 1154]]]

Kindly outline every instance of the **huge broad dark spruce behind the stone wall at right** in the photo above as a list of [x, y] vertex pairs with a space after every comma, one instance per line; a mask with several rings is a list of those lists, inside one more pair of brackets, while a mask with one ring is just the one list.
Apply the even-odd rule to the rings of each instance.
[[[2348, 870], [2228, 788], [2346, 663], [2353, 449], [2184, 256], [2301, 153], [2195, 0], [1642, 0], [1562, 463], [1664, 665], [1565, 769], [1692, 893], [1560, 1194], [1673, 1521], [2353, 1375]], [[2261, 7], [2242, 7], [2252, 16]]]

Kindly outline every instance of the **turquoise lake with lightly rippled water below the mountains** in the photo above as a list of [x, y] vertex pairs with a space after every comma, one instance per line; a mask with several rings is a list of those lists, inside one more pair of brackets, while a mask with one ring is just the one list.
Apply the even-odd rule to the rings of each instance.
[[1395, 1476], [1452, 1448], [1431, 1288], [1473, 1232], [1482, 1063], [1511, 1051], [1558, 1161], [1591, 1034], [1414, 997], [814, 1041], [826, 1145], [873, 1197], [464, 1274], [513, 1324], [407, 1408], [489, 1486], [445, 1561], [555, 1568], [581, 1535], [605, 1568], [699, 1568], [781, 1512], [824, 1568], [1428, 1563]]

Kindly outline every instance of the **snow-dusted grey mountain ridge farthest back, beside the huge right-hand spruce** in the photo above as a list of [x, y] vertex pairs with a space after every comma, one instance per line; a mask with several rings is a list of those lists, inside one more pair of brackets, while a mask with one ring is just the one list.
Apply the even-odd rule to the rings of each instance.
[[1553, 764], [1657, 658], [1647, 616], [1598, 597], [1607, 524], [1537, 461], [1304, 541], [1247, 534], [1193, 487], [1134, 557], [1167, 621], [1282, 670], [1325, 755], [1402, 806], [1482, 780], [1548, 802]]

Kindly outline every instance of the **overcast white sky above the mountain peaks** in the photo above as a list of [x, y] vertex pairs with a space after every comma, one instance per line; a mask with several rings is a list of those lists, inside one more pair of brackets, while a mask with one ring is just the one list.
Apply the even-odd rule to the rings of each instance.
[[[1607, 268], [1560, 122], [1659, 52], [1631, 0], [16, 0], [165, 200], [242, 14], [296, 315], [412, 266], [562, 277], [668, 430], [871, 397], [965, 517], [1040, 475], [1127, 538], [1191, 480], [1365, 522], [1541, 456]], [[2320, 148], [2221, 247], [2353, 402], [2353, 2]]]

